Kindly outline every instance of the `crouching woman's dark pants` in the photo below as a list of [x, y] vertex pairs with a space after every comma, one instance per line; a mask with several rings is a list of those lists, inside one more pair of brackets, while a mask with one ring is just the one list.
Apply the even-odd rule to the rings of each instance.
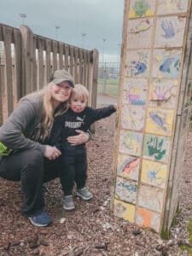
[[0, 177], [20, 181], [25, 198], [22, 207], [25, 216], [32, 216], [44, 208], [43, 183], [61, 175], [60, 158], [47, 160], [37, 149], [26, 149], [3, 157], [0, 163]]

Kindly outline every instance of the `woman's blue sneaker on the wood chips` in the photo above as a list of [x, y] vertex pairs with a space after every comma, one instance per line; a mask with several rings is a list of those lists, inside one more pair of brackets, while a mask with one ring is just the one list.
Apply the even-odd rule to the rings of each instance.
[[33, 214], [31, 217], [29, 217], [29, 219], [31, 223], [37, 227], [45, 227], [52, 223], [52, 219], [45, 211]]

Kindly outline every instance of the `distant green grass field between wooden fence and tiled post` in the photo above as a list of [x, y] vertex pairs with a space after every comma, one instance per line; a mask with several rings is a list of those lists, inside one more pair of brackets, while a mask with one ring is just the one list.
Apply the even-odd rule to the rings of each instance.
[[117, 96], [119, 90], [119, 81], [117, 79], [98, 79], [97, 93], [109, 96]]

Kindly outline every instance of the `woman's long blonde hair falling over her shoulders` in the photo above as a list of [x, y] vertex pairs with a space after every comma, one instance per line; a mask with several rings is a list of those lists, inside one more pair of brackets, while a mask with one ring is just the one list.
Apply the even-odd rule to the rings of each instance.
[[25, 99], [30, 98], [43, 98], [43, 123], [42, 123], [42, 129], [43, 129], [43, 140], [46, 137], [49, 137], [51, 128], [53, 126], [54, 118], [58, 115], [61, 115], [62, 113], [65, 113], [67, 109], [69, 108], [69, 101], [62, 102], [58, 108], [53, 108], [53, 102], [52, 102], [52, 96], [51, 96], [51, 86], [53, 85], [52, 82], [50, 82], [48, 85], [46, 85], [43, 89], [34, 91], [20, 99], [20, 102], [22, 102]]

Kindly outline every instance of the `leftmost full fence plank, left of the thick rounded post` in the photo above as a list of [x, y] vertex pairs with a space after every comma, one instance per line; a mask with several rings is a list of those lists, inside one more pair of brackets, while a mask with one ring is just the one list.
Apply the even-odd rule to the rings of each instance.
[[13, 29], [8, 26], [3, 27], [4, 34], [4, 49], [5, 49], [5, 66], [6, 66], [6, 100], [7, 100], [7, 114], [14, 110], [14, 96], [13, 96], [13, 73], [12, 73], [12, 58], [11, 58], [11, 34]]

